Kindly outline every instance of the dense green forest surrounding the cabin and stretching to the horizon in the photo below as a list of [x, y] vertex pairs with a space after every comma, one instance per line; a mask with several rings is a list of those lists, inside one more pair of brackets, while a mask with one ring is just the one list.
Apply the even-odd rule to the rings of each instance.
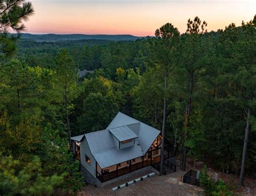
[[[167, 23], [156, 37], [122, 42], [2, 34], [0, 194], [78, 191], [70, 137], [105, 129], [118, 111], [165, 133], [183, 170], [203, 161], [255, 178], [256, 17], [206, 28], [196, 17], [185, 33]], [[95, 71], [79, 79], [78, 69]]]

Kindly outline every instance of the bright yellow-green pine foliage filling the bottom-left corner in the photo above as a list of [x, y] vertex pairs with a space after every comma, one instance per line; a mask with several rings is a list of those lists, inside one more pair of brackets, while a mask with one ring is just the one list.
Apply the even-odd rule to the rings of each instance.
[[44, 177], [36, 156], [25, 166], [9, 156], [0, 160], [0, 178], [1, 195], [50, 195], [62, 183], [64, 175]]

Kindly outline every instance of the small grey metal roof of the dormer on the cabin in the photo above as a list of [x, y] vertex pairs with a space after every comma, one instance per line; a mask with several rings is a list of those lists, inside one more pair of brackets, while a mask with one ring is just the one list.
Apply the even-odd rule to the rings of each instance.
[[128, 126], [117, 127], [117, 128], [114, 128], [114, 129], [110, 129], [109, 131], [119, 141], [138, 138], [137, 134], [135, 134]]

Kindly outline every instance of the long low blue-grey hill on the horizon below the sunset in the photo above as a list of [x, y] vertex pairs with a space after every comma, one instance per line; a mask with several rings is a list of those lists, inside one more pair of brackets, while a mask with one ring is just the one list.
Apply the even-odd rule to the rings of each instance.
[[60, 40], [80, 40], [80, 39], [104, 39], [113, 41], [132, 41], [144, 37], [137, 37], [132, 35], [84, 35], [84, 34], [43, 34], [35, 35], [30, 33], [22, 33], [22, 39], [31, 39], [36, 42], [57, 42]]

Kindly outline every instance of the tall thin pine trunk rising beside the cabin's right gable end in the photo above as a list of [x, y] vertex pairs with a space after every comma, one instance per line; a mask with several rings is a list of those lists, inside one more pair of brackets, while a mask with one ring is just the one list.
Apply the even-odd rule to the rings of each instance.
[[160, 175], [164, 174], [164, 137], [165, 137], [165, 123], [166, 123], [166, 90], [167, 90], [167, 73], [165, 73], [164, 84], [164, 117], [162, 127], [162, 142], [161, 142], [161, 162], [160, 162]]

